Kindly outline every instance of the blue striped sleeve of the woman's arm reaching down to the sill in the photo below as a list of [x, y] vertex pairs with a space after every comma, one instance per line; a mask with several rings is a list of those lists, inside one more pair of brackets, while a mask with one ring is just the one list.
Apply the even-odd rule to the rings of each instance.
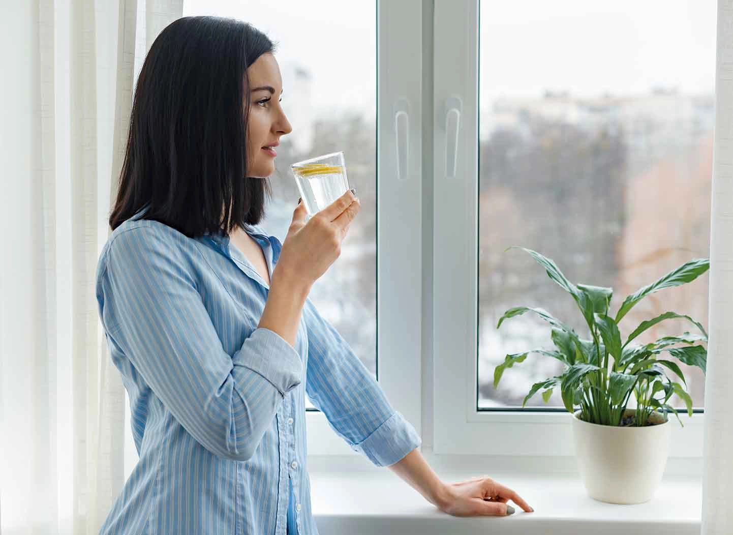
[[392, 465], [418, 448], [416, 429], [394, 410], [372, 373], [310, 299], [303, 317], [308, 333], [306, 394], [331, 429], [377, 466]]

